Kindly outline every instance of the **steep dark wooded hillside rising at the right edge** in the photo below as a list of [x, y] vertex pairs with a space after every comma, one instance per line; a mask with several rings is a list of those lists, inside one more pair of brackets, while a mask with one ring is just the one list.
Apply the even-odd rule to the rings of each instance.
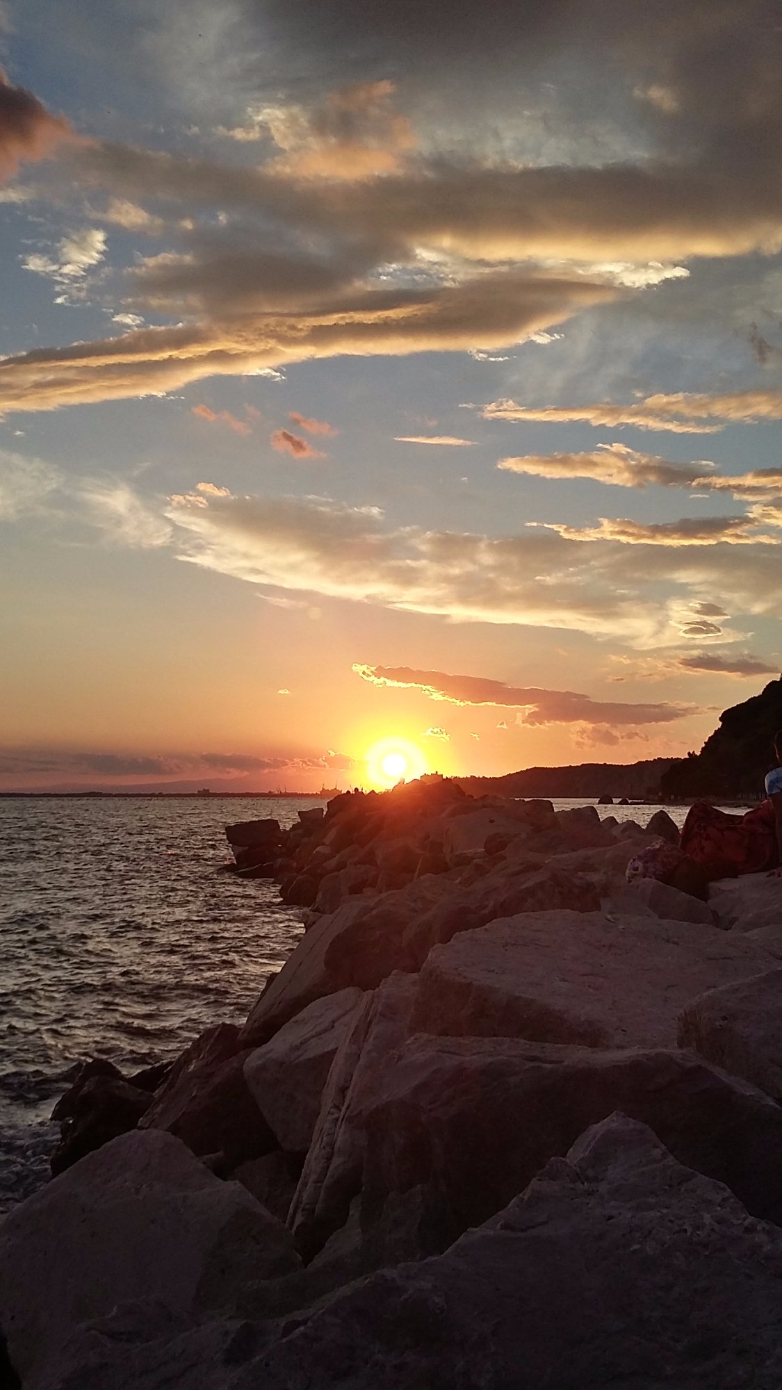
[[661, 780], [665, 796], [737, 796], [763, 792], [782, 728], [782, 677], [719, 716], [700, 753], [676, 760]]

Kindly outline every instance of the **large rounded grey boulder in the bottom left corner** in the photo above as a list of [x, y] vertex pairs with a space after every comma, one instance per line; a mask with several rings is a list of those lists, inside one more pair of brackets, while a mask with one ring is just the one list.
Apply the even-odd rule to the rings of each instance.
[[[134, 1131], [90, 1154], [0, 1226], [0, 1326], [25, 1390], [85, 1323], [147, 1301], [189, 1320], [299, 1266], [289, 1233], [179, 1140]], [[175, 1382], [174, 1382], [175, 1383]]]

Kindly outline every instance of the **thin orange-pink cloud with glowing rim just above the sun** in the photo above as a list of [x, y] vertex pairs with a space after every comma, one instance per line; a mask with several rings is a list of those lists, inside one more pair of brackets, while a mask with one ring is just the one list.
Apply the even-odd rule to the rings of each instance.
[[[516, 709], [516, 723], [544, 724], [668, 724], [696, 713], [692, 705], [622, 705], [593, 701], [575, 691], [547, 691], [537, 687], [505, 685], [484, 676], [448, 676], [445, 671], [417, 671], [408, 666], [366, 666], [353, 663], [362, 680], [373, 685], [419, 689], [429, 699], [449, 705], [488, 705]], [[500, 726], [498, 726], [500, 727]]]

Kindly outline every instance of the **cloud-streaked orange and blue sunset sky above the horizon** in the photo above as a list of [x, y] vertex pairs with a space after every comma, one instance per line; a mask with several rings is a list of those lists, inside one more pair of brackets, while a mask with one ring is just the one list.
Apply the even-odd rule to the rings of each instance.
[[0, 0], [0, 790], [700, 748], [782, 663], [772, 0]]

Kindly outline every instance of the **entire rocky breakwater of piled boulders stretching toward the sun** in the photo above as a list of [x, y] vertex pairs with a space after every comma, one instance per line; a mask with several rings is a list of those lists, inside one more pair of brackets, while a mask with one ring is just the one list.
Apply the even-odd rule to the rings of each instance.
[[245, 828], [308, 930], [60, 1102], [0, 1386], [776, 1390], [782, 880], [629, 885], [648, 838], [448, 783]]

